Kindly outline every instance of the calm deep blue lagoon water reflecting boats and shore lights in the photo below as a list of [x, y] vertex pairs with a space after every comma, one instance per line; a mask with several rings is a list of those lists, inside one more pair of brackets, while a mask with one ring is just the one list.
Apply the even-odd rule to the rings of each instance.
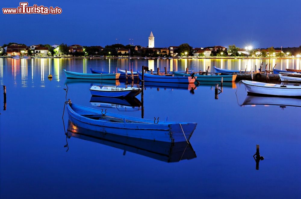
[[[213, 66], [250, 70], [261, 61], [277, 64], [281, 70], [301, 68], [299, 59], [0, 58], [1, 88], [6, 85], [7, 91], [6, 110], [0, 111], [0, 197], [299, 198], [301, 107], [290, 105], [300, 105], [300, 100], [285, 99], [279, 104], [279, 98], [252, 98], [239, 82], [225, 82], [218, 99], [214, 84], [146, 83], [144, 118], [168, 116], [169, 121], [197, 123], [191, 145], [142, 142], [140, 148], [131, 148], [120, 140], [65, 135], [65, 83], [67, 99], [73, 103], [114, 113], [141, 117], [141, 99], [138, 95], [138, 101], [130, 105], [99, 102], [89, 92], [93, 81], [66, 81], [63, 69], [90, 73], [90, 68], [113, 72], [116, 67], [131, 66], [136, 71], [144, 65], [154, 70], [185, 70], [194, 65], [195, 70], [208, 66], [212, 71]], [[47, 78], [50, 73], [52, 80]], [[2, 93], [0, 99], [3, 105]], [[270, 105], [259, 105], [262, 101]], [[252, 102], [257, 105], [240, 106]], [[259, 170], [253, 158], [256, 144], [265, 158]]]

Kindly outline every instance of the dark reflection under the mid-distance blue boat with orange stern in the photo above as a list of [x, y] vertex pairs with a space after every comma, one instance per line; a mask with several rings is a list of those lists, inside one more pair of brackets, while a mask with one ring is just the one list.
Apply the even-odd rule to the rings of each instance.
[[158, 91], [160, 89], [182, 89], [189, 90], [191, 93], [194, 93], [194, 90], [197, 89], [195, 84], [178, 84], [178, 83], [161, 83], [161, 82], [144, 82], [145, 88], [156, 88]]

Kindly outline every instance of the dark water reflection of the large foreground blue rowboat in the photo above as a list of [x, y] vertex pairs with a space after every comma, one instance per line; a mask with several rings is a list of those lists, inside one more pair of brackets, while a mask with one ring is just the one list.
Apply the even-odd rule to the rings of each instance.
[[171, 143], [112, 135], [75, 126], [70, 120], [67, 136], [122, 149], [123, 155], [129, 151], [164, 162], [179, 162], [197, 157], [191, 144], [186, 141]]

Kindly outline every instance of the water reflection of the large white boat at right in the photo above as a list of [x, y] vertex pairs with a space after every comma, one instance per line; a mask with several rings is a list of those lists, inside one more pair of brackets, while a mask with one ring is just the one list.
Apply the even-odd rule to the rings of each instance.
[[285, 108], [286, 106], [292, 107], [301, 107], [301, 99], [300, 98], [280, 98], [280, 97], [264, 97], [260, 95], [250, 95], [248, 94], [244, 103], [240, 106], [256, 106], [256, 105], [275, 105], [280, 106], [281, 108]]

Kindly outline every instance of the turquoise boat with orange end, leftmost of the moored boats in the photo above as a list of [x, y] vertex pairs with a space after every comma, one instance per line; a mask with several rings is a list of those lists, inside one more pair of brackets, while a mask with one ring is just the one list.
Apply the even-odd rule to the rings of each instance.
[[64, 69], [65, 75], [70, 79], [118, 79], [120, 73], [112, 74], [91, 74], [91, 73], [76, 73]]

